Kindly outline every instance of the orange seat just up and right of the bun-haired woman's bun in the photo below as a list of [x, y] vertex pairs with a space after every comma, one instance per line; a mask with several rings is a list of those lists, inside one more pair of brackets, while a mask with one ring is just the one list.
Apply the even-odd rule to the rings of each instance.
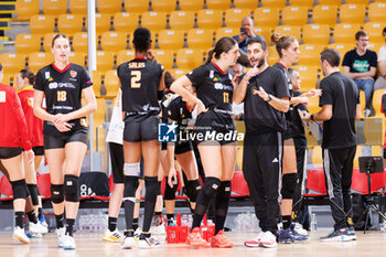
[[305, 44], [329, 44], [330, 28], [326, 24], [303, 25], [303, 41]]

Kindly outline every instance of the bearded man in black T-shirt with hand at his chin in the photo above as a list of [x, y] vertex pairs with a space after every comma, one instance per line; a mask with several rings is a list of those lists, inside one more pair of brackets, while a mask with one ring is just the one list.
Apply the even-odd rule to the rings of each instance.
[[248, 247], [277, 247], [285, 113], [289, 109], [286, 77], [267, 64], [267, 43], [250, 39], [247, 55], [251, 69], [235, 89], [234, 101], [244, 101], [246, 135], [243, 167], [261, 232], [245, 242]]

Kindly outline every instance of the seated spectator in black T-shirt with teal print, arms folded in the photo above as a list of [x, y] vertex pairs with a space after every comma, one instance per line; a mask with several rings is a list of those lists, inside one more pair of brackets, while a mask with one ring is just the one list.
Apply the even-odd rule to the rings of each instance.
[[377, 56], [374, 51], [367, 49], [368, 34], [360, 30], [355, 34], [356, 47], [349, 51], [343, 58], [343, 73], [354, 79], [356, 86], [364, 90], [366, 97], [366, 107], [364, 116], [374, 116], [375, 111], [372, 104], [374, 77], [376, 75]]

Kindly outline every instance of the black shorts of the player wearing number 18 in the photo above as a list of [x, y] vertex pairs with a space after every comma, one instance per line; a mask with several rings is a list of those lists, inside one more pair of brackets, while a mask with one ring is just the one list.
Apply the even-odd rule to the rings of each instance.
[[51, 136], [44, 135], [44, 149], [64, 148], [67, 142], [84, 142], [88, 143], [88, 132], [84, 130], [74, 131], [69, 135]]

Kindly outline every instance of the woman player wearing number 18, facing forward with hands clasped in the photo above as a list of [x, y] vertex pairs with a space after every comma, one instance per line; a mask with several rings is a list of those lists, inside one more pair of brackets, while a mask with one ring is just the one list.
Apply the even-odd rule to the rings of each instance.
[[[97, 104], [87, 72], [68, 61], [66, 35], [53, 38], [52, 53], [54, 63], [36, 74], [33, 109], [35, 116], [44, 120], [44, 151], [51, 174], [58, 245], [75, 249], [73, 227], [79, 206], [79, 173], [88, 142], [85, 116], [94, 113]], [[42, 108], [44, 95], [46, 110]], [[82, 96], [85, 106], [82, 106]]]

